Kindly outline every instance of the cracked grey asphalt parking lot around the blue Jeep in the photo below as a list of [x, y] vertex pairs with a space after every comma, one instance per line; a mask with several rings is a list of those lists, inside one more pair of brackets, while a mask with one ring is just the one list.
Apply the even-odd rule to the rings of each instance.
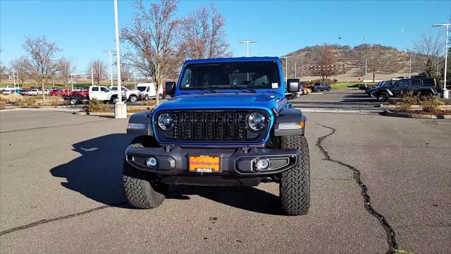
[[[293, 104], [374, 107], [359, 95]], [[288, 217], [276, 183], [177, 186], [158, 209], [132, 209], [121, 185], [126, 120], [0, 112], [0, 253], [451, 253], [451, 121], [306, 114], [311, 207]]]

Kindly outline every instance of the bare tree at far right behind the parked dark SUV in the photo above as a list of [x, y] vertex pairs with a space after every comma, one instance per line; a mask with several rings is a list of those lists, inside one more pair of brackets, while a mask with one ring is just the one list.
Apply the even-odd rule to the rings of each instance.
[[428, 77], [436, 73], [435, 59], [443, 52], [444, 46], [443, 32], [440, 31], [421, 35], [414, 42], [416, 58], [423, 63], [423, 71]]

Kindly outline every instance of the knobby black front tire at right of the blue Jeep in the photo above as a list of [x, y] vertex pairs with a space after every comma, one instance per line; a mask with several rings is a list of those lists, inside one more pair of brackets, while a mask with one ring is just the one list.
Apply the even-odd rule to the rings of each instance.
[[279, 192], [282, 209], [289, 215], [309, 212], [310, 206], [310, 159], [309, 144], [301, 135], [283, 136], [282, 149], [299, 149], [298, 164], [280, 176]]

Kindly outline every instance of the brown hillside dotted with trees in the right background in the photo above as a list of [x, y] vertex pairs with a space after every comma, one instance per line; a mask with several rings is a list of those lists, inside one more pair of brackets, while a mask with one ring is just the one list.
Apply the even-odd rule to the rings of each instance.
[[[301, 80], [313, 80], [319, 78], [317, 70], [319, 67], [318, 59], [323, 46], [304, 47], [298, 49], [295, 52], [291, 52], [286, 56], [295, 56], [288, 60], [288, 70], [290, 71], [290, 77], [295, 76], [295, 59], [296, 59], [296, 74], [297, 78]], [[362, 80], [362, 73], [364, 73], [364, 45], [361, 44], [356, 47], [350, 47], [347, 45], [328, 45], [332, 50], [330, 54], [333, 54], [335, 59], [336, 73], [330, 76], [330, 78], [336, 78], [340, 81], [359, 81]], [[369, 45], [366, 45], [366, 55]], [[380, 47], [383, 56], [388, 56], [388, 63], [385, 64], [381, 70], [377, 71], [375, 79], [385, 80], [389, 78], [395, 78], [397, 76], [409, 75], [409, 54], [402, 52], [393, 47], [381, 46]], [[412, 73], [419, 73], [421, 69], [421, 63], [419, 58], [415, 59], [415, 55], [412, 55]], [[415, 61], [416, 60], [416, 61]], [[285, 68], [285, 60], [282, 59], [283, 66]], [[368, 69], [367, 76], [369, 80], [373, 79], [371, 71]]]

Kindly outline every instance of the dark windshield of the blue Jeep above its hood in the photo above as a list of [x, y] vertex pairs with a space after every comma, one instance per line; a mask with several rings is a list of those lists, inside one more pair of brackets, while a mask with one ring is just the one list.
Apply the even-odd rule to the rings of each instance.
[[272, 89], [279, 83], [275, 61], [197, 63], [185, 67], [180, 89]]

